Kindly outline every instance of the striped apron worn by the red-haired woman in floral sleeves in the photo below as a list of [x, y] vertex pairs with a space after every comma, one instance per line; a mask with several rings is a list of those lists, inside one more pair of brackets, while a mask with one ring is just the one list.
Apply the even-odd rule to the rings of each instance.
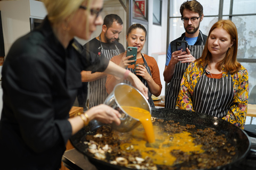
[[214, 79], [206, 76], [205, 69], [206, 67], [192, 97], [194, 111], [215, 117], [226, 116], [234, 96], [234, 83], [230, 72], [227, 77]]

